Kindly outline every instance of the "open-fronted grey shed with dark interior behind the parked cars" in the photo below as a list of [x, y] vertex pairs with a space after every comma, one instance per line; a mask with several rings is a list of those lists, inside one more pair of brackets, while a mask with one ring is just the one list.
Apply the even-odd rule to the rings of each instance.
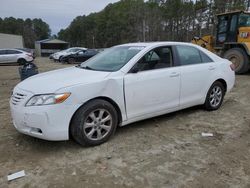
[[49, 56], [55, 52], [67, 49], [69, 43], [58, 39], [45, 39], [35, 42], [37, 56]]

